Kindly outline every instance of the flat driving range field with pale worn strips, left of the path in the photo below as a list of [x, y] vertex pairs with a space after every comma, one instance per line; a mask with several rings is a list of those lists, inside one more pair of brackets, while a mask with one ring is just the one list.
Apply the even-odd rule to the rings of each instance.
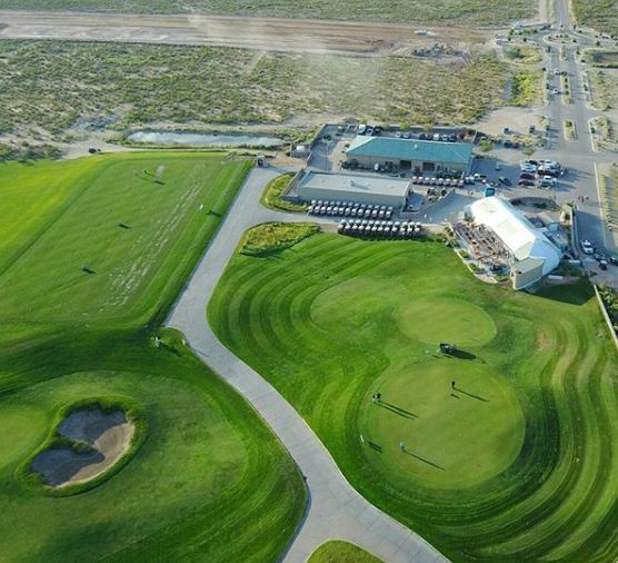
[[14, 201], [29, 219], [16, 245], [18, 259], [1, 271], [0, 318], [148, 319], [154, 304], [166, 303], [161, 295], [175, 297], [173, 283], [188, 274], [247, 166], [221, 166], [220, 156], [197, 152], [33, 165], [27, 167], [29, 184], [44, 186], [58, 170], [67, 192], [58, 206], [43, 207], [46, 190], [31, 192], [20, 182], [24, 167], [4, 165], [0, 181], [8, 184], [9, 199], [0, 225]]

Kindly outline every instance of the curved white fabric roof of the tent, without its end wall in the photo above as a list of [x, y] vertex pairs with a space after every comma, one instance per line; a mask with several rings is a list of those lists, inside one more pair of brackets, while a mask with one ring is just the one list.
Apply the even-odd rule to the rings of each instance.
[[477, 225], [489, 227], [500, 238], [516, 260], [542, 260], [544, 276], [560, 264], [559, 248], [508, 201], [485, 197], [470, 206], [470, 214]]

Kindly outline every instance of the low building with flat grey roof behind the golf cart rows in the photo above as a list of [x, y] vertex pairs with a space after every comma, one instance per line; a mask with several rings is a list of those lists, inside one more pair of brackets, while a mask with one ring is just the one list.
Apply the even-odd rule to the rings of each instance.
[[403, 207], [411, 180], [362, 174], [308, 171], [296, 186], [299, 199], [311, 201], [350, 201], [356, 204]]

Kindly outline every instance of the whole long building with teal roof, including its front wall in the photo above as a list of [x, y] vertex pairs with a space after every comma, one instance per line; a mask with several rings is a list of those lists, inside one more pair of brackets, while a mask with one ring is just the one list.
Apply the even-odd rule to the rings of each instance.
[[472, 145], [358, 135], [346, 156], [369, 168], [379, 165], [403, 171], [466, 174], [472, 164]]

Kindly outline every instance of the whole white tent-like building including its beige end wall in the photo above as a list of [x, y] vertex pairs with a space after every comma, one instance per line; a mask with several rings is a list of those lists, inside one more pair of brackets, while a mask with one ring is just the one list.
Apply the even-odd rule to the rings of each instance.
[[508, 201], [486, 197], [470, 205], [468, 213], [507, 249], [515, 289], [530, 286], [560, 264], [560, 249]]

